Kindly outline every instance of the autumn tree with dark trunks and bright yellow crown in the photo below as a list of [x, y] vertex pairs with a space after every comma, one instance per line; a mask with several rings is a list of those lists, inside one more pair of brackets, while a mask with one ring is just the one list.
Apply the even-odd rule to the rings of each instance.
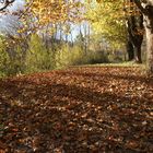
[[94, 32], [99, 33], [113, 48], [126, 45], [128, 60], [142, 62], [143, 20], [133, 3], [123, 3], [122, 0], [114, 3], [95, 3], [91, 4], [90, 9], [87, 8], [86, 14], [87, 19], [92, 21]]

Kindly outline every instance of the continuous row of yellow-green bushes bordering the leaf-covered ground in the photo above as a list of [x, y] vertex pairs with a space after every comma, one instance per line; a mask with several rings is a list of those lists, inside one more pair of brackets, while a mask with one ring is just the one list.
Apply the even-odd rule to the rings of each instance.
[[0, 75], [15, 75], [61, 69], [68, 66], [94, 64], [109, 62], [104, 51], [83, 50], [78, 44], [54, 43], [46, 47], [43, 39], [33, 34], [26, 51], [15, 45], [10, 50], [0, 42]]

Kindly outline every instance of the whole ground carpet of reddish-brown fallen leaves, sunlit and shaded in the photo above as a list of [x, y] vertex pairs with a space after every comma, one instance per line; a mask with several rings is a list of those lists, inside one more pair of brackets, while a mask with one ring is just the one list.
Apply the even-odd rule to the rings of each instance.
[[153, 79], [76, 67], [0, 81], [0, 153], [153, 153]]

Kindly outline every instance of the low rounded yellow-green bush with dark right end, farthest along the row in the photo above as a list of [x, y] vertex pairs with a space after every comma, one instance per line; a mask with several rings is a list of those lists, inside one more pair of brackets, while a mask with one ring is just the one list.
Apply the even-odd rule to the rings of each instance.
[[80, 46], [63, 45], [56, 51], [56, 68], [62, 68], [67, 66], [80, 66], [80, 64], [94, 64], [94, 63], [109, 62], [108, 57], [103, 51], [86, 52], [82, 50]]

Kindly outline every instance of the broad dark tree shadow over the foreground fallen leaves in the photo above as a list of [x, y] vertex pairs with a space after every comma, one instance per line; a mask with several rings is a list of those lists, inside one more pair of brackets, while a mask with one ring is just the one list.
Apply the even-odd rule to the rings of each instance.
[[150, 101], [24, 80], [3, 83], [2, 92], [9, 94], [0, 97], [0, 105], [7, 114], [2, 141], [10, 152], [153, 151], [152, 121], [146, 117]]

